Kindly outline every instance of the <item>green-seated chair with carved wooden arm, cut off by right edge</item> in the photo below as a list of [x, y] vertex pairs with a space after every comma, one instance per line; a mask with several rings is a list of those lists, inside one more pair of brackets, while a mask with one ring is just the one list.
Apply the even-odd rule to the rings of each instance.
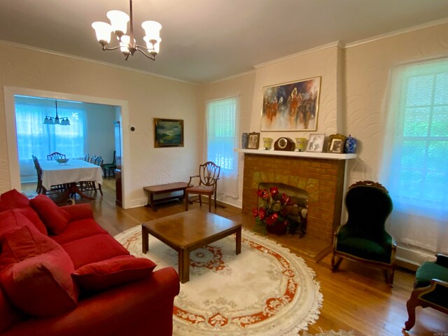
[[435, 262], [423, 262], [415, 274], [414, 290], [407, 300], [405, 330], [415, 324], [415, 307], [431, 307], [448, 314], [448, 255], [437, 254]]

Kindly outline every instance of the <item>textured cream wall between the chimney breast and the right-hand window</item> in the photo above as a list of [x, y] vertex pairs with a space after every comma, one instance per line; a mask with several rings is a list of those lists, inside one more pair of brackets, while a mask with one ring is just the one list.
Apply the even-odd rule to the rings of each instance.
[[349, 162], [349, 183], [379, 179], [389, 70], [448, 57], [447, 31], [448, 24], [438, 25], [346, 48], [347, 132], [358, 139], [358, 158]]

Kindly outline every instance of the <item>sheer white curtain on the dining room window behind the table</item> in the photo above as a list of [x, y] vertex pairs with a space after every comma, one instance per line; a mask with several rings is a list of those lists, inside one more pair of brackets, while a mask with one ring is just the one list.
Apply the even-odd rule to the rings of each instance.
[[57, 106], [59, 118], [69, 118], [70, 125], [44, 125], [45, 116], [55, 117], [55, 106], [15, 103], [20, 175], [36, 176], [31, 155], [47, 160], [47, 155], [59, 152], [66, 158], [83, 158], [87, 148], [86, 116], [82, 107]]

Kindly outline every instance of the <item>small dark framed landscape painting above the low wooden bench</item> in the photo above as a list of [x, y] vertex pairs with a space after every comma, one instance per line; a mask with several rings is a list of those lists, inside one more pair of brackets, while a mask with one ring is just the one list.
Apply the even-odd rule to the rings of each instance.
[[183, 147], [183, 120], [154, 118], [154, 147]]

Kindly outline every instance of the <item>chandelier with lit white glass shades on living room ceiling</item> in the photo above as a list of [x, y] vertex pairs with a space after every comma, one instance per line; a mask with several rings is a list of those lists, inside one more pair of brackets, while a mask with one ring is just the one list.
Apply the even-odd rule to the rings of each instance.
[[[155, 61], [155, 56], [159, 53], [160, 49], [160, 29], [162, 29], [162, 25], [159, 22], [155, 21], [145, 21], [141, 24], [145, 31], [144, 41], [146, 42], [146, 47], [142, 45], [137, 45], [134, 39], [134, 23], [132, 20], [132, 0], [129, 1], [130, 6], [130, 16], [126, 13], [123, 13], [120, 10], [109, 10], [107, 12], [107, 17], [111, 20], [111, 25], [106, 22], [93, 22], [92, 27], [95, 29], [97, 34], [98, 42], [103, 46], [103, 50], [116, 50], [120, 48], [123, 55], [125, 55], [125, 59], [129, 57], [129, 55], [134, 55], [134, 52], [139, 50], [142, 54], [144, 54], [149, 59]], [[130, 33], [126, 35], [127, 31], [127, 22], [130, 21]], [[114, 33], [116, 38], [118, 39], [119, 45], [113, 48], [106, 48], [111, 42], [111, 33]], [[148, 52], [148, 54], [146, 53]]]

